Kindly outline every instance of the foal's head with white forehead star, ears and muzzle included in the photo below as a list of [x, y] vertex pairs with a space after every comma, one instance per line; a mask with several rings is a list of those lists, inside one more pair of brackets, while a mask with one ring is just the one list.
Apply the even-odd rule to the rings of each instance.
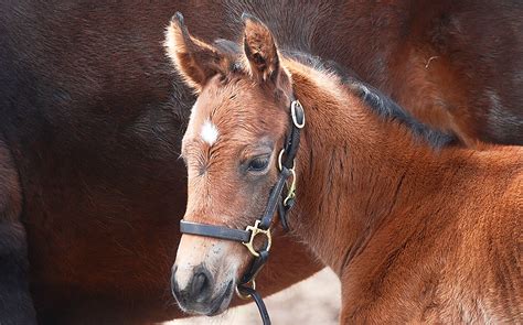
[[[254, 18], [244, 23], [243, 51], [191, 36], [180, 14], [166, 41], [179, 74], [199, 94], [182, 143], [184, 220], [237, 229], [264, 213], [292, 96], [270, 31]], [[180, 306], [207, 315], [224, 311], [250, 258], [238, 242], [183, 235], [172, 278]]]

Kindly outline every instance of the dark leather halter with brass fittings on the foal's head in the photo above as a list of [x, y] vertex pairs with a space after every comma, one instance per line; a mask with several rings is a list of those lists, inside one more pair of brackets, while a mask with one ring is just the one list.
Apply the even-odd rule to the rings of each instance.
[[[262, 296], [256, 291], [256, 275], [265, 266], [269, 257], [269, 250], [273, 242], [270, 226], [276, 212], [278, 212], [284, 229], [286, 231], [289, 229], [287, 215], [295, 205], [296, 198], [295, 158], [300, 144], [300, 130], [305, 127], [303, 107], [297, 99], [292, 100], [290, 104], [290, 133], [287, 136], [284, 149], [281, 149], [278, 154], [278, 180], [270, 191], [269, 199], [263, 216], [254, 223], [254, 226], [247, 226], [245, 230], [241, 230], [223, 226], [180, 220], [180, 231], [183, 234], [239, 241], [247, 247], [250, 254], [254, 256], [254, 260], [247, 272], [242, 277], [239, 284], [236, 286], [236, 294], [241, 299], [245, 300], [252, 297], [256, 302], [264, 325], [270, 325], [270, 318]], [[290, 183], [290, 186], [287, 186], [289, 177], [292, 177], [292, 182]], [[284, 191], [286, 193], [285, 198]], [[265, 236], [266, 238], [265, 245], [260, 250], [254, 248], [254, 239], [258, 235]]]

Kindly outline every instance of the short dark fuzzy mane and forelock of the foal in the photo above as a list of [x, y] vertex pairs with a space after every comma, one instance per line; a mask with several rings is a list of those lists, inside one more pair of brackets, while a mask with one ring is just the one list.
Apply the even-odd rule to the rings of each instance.
[[[214, 42], [214, 46], [230, 55], [239, 56], [241, 54], [238, 44], [232, 41], [218, 39]], [[280, 50], [280, 53], [285, 57], [297, 61], [313, 69], [337, 76], [339, 82], [366, 104], [366, 107], [374, 113], [386, 120], [395, 121], [405, 126], [416, 138], [424, 139], [430, 147], [437, 149], [456, 144], [458, 142], [455, 136], [421, 123], [388, 96], [371, 85], [365, 84], [354, 72], [342, 67], [337, 62], [322, 61], [318, 56], [299, 51]], [[241, 62], [233, 62], [231, 65], [231, 72], [241, 69]]]

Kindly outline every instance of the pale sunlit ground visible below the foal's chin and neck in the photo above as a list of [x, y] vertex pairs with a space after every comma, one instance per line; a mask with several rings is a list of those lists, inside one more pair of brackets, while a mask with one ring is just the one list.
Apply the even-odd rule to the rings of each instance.
[[[340, 311], [340, 282], [330, 269], [265, 299], [273, 324], [334, 325]], [[193, 317], [164, 325], [262, 324], [254, 303], [231, 308], [215, 317]]]

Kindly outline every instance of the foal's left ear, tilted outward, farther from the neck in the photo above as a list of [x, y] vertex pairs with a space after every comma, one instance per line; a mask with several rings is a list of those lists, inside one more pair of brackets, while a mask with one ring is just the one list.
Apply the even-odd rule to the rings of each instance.
[[185, 83], [196, 91], [202, 90], [211, 77], [226, 69], [226, 57], [215, 47], [193, 37], [180, 12], [171, 19], [166, 32], [164, 46]]

